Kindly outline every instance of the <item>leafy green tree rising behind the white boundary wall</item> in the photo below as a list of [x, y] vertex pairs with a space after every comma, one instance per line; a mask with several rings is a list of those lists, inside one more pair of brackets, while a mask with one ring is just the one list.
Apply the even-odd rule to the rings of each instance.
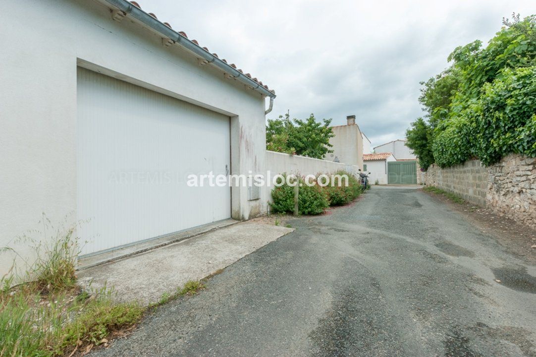
[[330, 138], [334, 136], [331, 119], [318, 122], [311, 114], [306, 120], [290, 120], [288, 114], [268, 120], [266, 125], [266, 149], [314, 158], [324, 158], [333, 152]]

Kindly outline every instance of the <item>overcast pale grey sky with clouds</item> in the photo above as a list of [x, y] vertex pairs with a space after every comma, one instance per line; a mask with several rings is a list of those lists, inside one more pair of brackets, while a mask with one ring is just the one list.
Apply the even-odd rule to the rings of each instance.
[[419, 82], [452, 50], [500, 30], [530, 1], [139, 0], [175, 30], [276, 90], [269, 119], [355, 114], [373, 147], [422, 115]]

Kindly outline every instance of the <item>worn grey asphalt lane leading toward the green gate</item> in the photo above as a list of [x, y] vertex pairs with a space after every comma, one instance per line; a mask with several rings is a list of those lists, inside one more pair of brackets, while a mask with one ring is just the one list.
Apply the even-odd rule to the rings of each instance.
[[291, 224], [94, 355], [536, 356], [536, 266], [445, 203], [373, 187]]

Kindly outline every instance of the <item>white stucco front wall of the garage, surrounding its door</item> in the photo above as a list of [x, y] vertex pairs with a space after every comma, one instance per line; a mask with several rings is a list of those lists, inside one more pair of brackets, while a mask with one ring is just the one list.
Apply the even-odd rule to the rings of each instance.
[[[230, 116], [232, 173], [264, 171], [260, 93], [200, 66], [181, 47], [162, 46], [159, 35], [129, 18], [112, 20], [95, 1], [6, 1], [2, 14], [0, 246], [29, 256], [27, 244], [13, 239], [39, 228], [41, 213], [56, 226], [76, 216], [77, 65]], [[248, 201], [246, 187], [233, 188], [233, 217], [264, 212], [266, 194]], [[0, 275], [10, 264], [0, 259]]]

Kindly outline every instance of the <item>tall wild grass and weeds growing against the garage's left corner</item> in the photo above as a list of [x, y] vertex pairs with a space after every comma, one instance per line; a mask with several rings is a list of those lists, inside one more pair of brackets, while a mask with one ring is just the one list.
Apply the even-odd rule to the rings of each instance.
[[[83, 345], [99, 345], [113, 331], [138, 322], [144, 308], [138, 303], [116, 303], [113, 289], [79, 293], [76, 287], [75, 227], [51, 228], [43, 214], [41, 239], [26, 234], [35, 260], [24, 261], [0, 279], [0, 357], [53, 357]], [[48, 236], [47, 232], [53, 232]], [[17, 275], [20, 274], [20, 275]], [[16, 281], [31, 281], [12, 287]]]

